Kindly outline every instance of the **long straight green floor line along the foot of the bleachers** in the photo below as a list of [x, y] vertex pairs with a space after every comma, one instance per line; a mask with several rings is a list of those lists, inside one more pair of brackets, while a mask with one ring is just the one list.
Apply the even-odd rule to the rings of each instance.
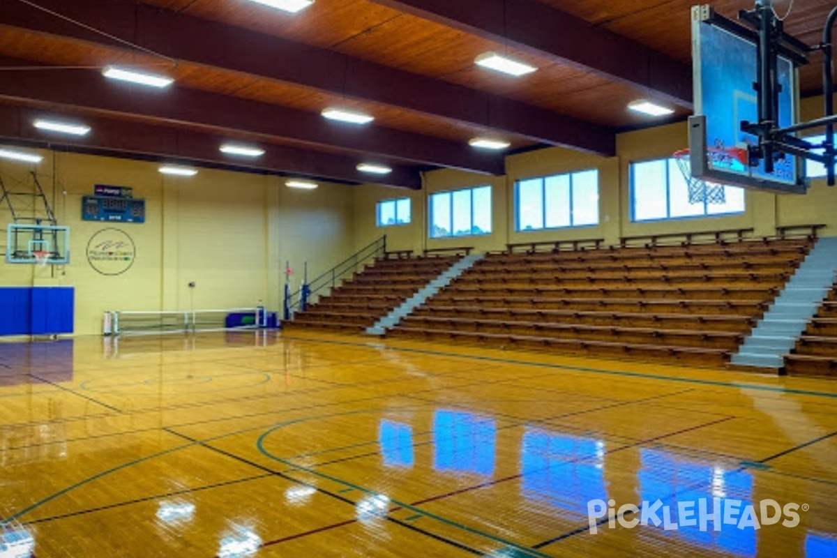
[[[284, 335], [283, 335], [284, 337]], [[366, 343], [353, 343], [350, 341], [338, 341], [338, 340], [325, 340], [325, 339], [308, 339], [306, 337], [293, 337], [287, 336], [284, 337], [285, 339], [291, 340], [298, 340], [298, 341], [306, 341], [310, 343], [327, 343], [327, 344], [334, 344], [334, 345], [347, 345], [347, 346], [367, 346]], [[372, 347], [369, 347], [372, 348]], [[381, 348], [385, 351], [400, 351], [400, 352], [408, 352], [408, 353], [416, 353], [419, 355], [432, 355], [432, 356], [445, 356], [445, 357], [459, 357], [462, 359], [470, 359], [476, 361], [486, 361], [486, 362], [502, 362], [505, 364], [514, 364], [517, 366], [537, 366], [539, 368], [554, 368], [557, 370], [568, 370], [568, 371], [575, 371], [575, 372], [591, 372], [593, 374], [604, 374], [608, 376], [627, 376], [627, 377], [636, 377], [636, 378], [643, 378], [647, 380], [665, 380], [665, 381], [679, 381], [683, 383], [693, 383], [702, 386], [716, 386], [716, 387], [734, 387], [737, 389], [752, 389], [761, 392], [774, 392], [774, 393], [793, 393], [794, 395], [806, 395], [811, 397], [829, 397], [833, 399], [837, 399], [837, 393], [829, 393], [829, 392], [812, 392], [809, 390], [801, 390], [792, 387], [777, 387], [777, 386], [757, 386], [746, 384], [737, 381], [720, 381], [720, 380], [701, 380], [700, 378], [682, 378], [678, 376], [663, 376], [660, 374], [648, 374], [646, 372], [629, 372], [629, 371], [619, 371], [619, 370], [602, 370], [599, 368], [588, 368], [583, 366], [567, 366], [561, 364], [549, 364], [547, 362], [530, 362], [530, 361], [517, 361], [514, 359], [504, 359], [504, 358], [497, 358], [496, 356], [480, 356], [480, 355], [459, 355], [456, 353], [447, 353], [444, 351], [430, 351], [428, 349], [411, 349], [408, 347], [393, 347], [393, 346], [381, 346], [381, 347], [374, 347], [374, 348]], [[560, 356], [560, 355], [558, 355]], [[641, 362], [638, 362], [641, 364]], [[660, 365], [665, 366], [665, 365]], [[707, 369], [707, 370], [714, 370], [714, 369]]]

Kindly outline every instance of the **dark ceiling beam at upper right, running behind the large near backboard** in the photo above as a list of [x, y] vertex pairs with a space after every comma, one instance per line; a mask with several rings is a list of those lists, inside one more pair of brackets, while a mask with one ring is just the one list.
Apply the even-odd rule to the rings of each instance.
[[[372, 0], [692, 108], [691, 67], [537, 0]], [[686, 15], [684, 15], [686, 17]]]

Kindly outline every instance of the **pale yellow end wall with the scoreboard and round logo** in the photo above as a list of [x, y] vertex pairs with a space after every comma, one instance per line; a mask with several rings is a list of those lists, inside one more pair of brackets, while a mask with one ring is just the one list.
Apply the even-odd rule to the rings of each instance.
[[[37, 166], [59, 224], [70, 228], [66, 266], [0, 263], [0, 285], [75, 287], [75, 331], [98, 334], [105, 310], [279, 310], [285, 262], [299, 287], [303, 262], [320, 273], [352, 253], [354, 192], [321, 183], [290, 190], [279, 177], [200, 169], [196, 177], [165, 177], [156, 163], [42, 151]], [[3, 161], [4, 179], [25, 177], [28, 164]], [[54, 177], [53, 177], [54, 175]], [[146, 200], [146, 223], [82, 221], [81, 197], [95, 184], [134, 189]], [[5, 232], [8, 209], [0, 207]], [[136, 244], [134, 264], [105, 276], [86, 259], [90, 238], [116, 227]], [[191, 289], [187, 285], [194, 281]]]

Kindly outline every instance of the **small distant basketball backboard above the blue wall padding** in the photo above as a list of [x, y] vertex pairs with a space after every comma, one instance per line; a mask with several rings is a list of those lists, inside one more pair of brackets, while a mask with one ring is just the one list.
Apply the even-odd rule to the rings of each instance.
[[8, 264], [69, 264], [69, 228], [54, 225], [11, 223], [8, 226]]

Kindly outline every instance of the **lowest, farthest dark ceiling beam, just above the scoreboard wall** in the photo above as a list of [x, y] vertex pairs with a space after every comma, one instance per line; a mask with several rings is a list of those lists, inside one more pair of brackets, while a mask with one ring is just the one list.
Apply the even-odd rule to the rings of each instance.
[[[67, 136], [39, 131], [32, 125], [38, 118], [55, 120], [62, 116], [63, 120], [83, 121], [92, 130], [86, 136]], [[210, 166], [229, 171], [353, 184], [375, 182], [412, 190], [421, 188], [419, 170], [409, 166], [393, 166], [392, 173], [380, 177], [380, 180], [370, 180], [368, 175], [357, 171], [357, 159], [354, 157], [95, 115], [68, 117], [60, 111], [27, 106], [0, 105], [0, 141], [94, 155]], [[224, 141], [260, 146], [265, 152], [263, 156], [252, 160], [225, 156], [218, 151]]]

